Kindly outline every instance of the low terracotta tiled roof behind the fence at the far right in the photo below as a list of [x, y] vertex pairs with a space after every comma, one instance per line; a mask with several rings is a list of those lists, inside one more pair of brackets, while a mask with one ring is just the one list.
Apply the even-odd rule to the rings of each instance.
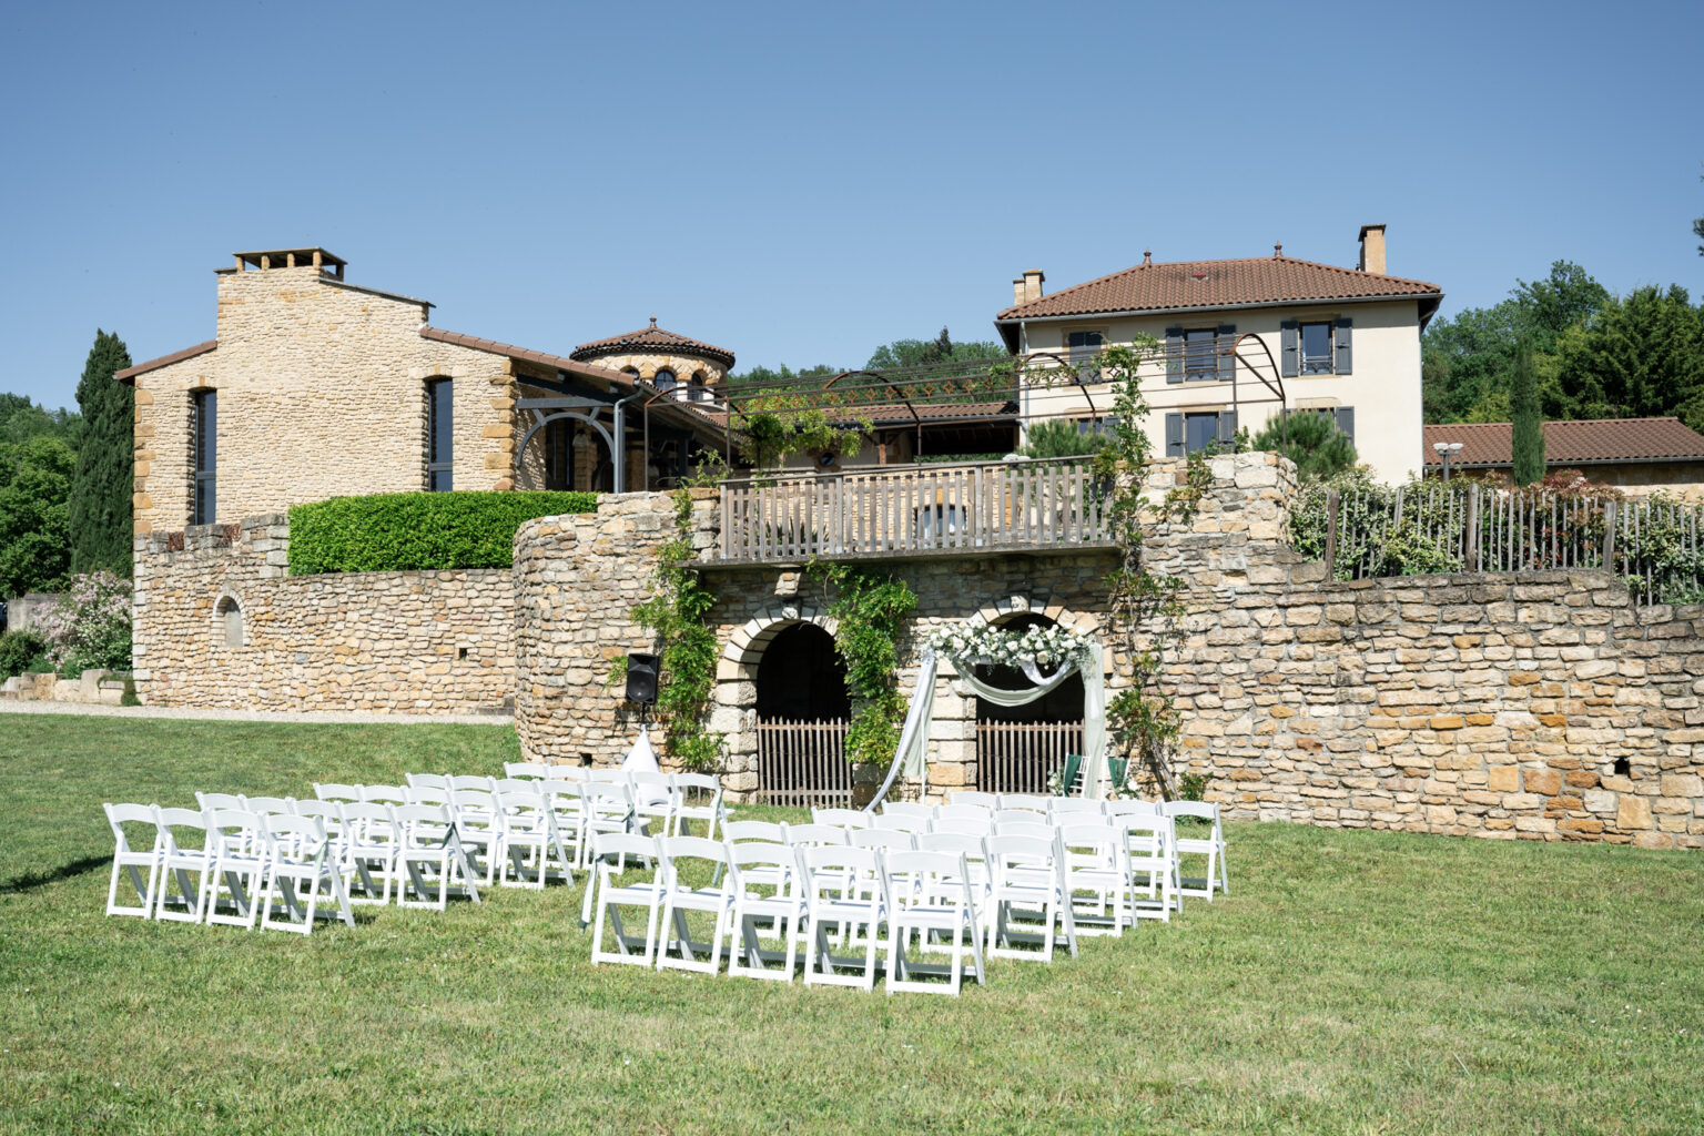
[[[1426, 426], [1425, 460], [1443, 465], [1431, 448], [1459, 441], [1462, 451], [1450, 458], [1457, 470], [1513, 465], [1515, 427], [1510, 422], [1450, 422]], [[1673, 417], [1586, 419], [1544, 424], [1544, 463], [1617, 465], [1624, 462], [1704, 462], [1704, 434]]]

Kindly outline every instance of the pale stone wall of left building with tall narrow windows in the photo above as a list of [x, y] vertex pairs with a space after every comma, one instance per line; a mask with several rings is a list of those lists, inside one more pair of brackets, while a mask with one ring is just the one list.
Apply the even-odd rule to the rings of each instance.
[[508, 489], [511, 363], [314, 267], [218, 274], [218, 347], [135, 378], [136, 531], [191, 519], [193, 392], [218, 390], [216, 519], [426, 487], [426, 380], [455, 382], [457, 489]]

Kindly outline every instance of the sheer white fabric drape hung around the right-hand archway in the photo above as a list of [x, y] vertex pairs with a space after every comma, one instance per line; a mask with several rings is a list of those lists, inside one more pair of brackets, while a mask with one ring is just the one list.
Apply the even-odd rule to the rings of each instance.
[[[934, 649], [924, 651], [922, 664], [917, 668], [917, 693], [912, 695], [912, 707], [905, 715], [905, 727], [900, 731], [900, 751], [888, 766], [888, 780], [881, 783], [881, 792], [866, 806], [866, 812], [876, 809], [888, 799], [893, 778], [901, 772], [907, 780], [922, 783], [927, 789], [929, 778], [929, 722], [935, 709], [935, 669]], [[1034, 686], [1028, 690], [1000, 690], [976, 678], [975, 659], [953, 659], [959, 680], [970, 686], [978, 698], [997, 707], [1022, 707], [1053, 693], [1072, 674], [1082, 674], [1082, 795], [1099, 800], [1106, 795], [1106, 676], [1101, 673], [1099, 649], [1084, 651], [1070, 657], [1058, 671], [1043, 676], [1033, 659], [1019, 663], [1024, 678]]]

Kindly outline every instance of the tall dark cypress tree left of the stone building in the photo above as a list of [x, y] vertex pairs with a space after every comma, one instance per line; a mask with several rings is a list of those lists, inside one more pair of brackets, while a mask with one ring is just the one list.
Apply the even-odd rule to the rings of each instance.
[[135, 470], [136, 392], [112, 378], [130, 366], [130, 351], [118, 336], [95, 330], [77, 405], [83, 412], [83, 439], [72, 475], [72, 571], [107, 569], [131, 574], [131, 473]]

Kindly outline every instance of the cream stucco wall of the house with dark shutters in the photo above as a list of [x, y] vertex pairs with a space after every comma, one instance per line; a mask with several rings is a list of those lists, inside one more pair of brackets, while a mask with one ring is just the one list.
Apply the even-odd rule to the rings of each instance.
[[[1201, 312], [1196, 315], [1172, 313], [1140, 318], [1084, 317], [1058, 322], [1028, 322], [1024, 325], [1028, 349], [1065, 351], [1074, 330], [1099, 330], [1108, 344], [1126, 344], [1137, 334], [1147, 334], [1164, 342], [1167, 327], [1217, 327], [1234, 324], [1237, 334], [1254, 332], [1271, 351], [1273, 368], [1281, 366], [1280, 324], [1283, 320], [1355, 320], [1353, 373], [1304, 375], [1283, 380], [1285, 397], [1293, 407], [1355, 407], [1355, 448], [1361, 462], [1373, 468], [1379, 480], [1401, 482], [1421, 467], [1421, 402], [1419, 402], [1419, 305], [1413, 300], [1397, 303], [1341, 303], [1285, 308], [1246, 308], [1235, 312]], [[1258, 358], [1263, 373], [1264, 356], [1252, 344], [1242, 347], [1246, 358]], [[1152, 414], [1147, 433], [1154, 451], [1166, 453], [1166, 414], [1169, 410], [1229, 410], [1232, 409], [1232, 383], [1167, 383], [1162, 370], [1143, 380], [1142, 393]], [[1111, 407], [1111, 392], [1091, 387], [1089, 395], [1099, 414]], [[1237, 424], [1249, 433], [1259, 433], [1266, 419], [1278, 412], [1276, 402], [1264, 383], [1247, 368], [1237, 368]], [[1036, 417], [1087, 417], [1089, 402], [1075, 388], [1031, 388], [1024, 392], [1026, 421]]]

